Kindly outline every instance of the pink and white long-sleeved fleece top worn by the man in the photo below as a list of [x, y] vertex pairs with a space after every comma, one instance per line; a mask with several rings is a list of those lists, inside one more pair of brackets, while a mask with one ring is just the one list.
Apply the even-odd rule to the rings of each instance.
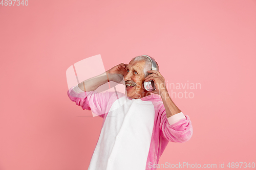
[[182, 112], [166, 117], [158, 94], [131, 99], [120, 92], [68, 90], [71, 101], [103, 118], [89, 170], [156, 169], [169, 141], [185, 142], [193, 128]]

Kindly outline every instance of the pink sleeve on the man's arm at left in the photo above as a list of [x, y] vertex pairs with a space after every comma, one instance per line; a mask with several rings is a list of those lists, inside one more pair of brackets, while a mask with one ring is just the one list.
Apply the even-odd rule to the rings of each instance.
[[104, 117], [105, 113], [109, 112], [111, 105], [117, 99], [115, 92], [84, 91], [79, 93], [73, 88], [68, 90], [70, 100], [81, 106], [83, 110], [92, 110], [94, 114], [100, 117]]

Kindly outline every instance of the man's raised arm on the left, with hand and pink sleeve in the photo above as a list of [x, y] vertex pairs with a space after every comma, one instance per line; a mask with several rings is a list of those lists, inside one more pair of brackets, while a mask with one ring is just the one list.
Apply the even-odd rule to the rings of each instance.
[[[123, 80], [123, 74], [126, 73], [127, 64], [119, 64], [103, 74], [85, 80], [68, 90], [69, 98], [81, 106], [82, 109], [92, 110], [93, 113], [104, 117], [110, 110], [111, 105], [123, 95], [122, 93], [104, 92], [98, 93], [95, 91], [100, 85], [105, 84], [108, 81], [115, 81], [120, 83]], [[86, 91], [86, 92], [84, 92]]]

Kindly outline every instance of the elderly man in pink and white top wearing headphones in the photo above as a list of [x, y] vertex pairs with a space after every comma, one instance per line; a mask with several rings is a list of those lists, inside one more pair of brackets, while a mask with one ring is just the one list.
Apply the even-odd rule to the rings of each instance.
[[[73, 102], [103, 118], [90, 170], [156, 169], [169, 141], [191, 138], [189, 117], [170, 99], [158, 64], [151, 69], [152, 61], [152, 57], [137, 56], [69, 89]], [[126, 94], [95, 91], [108, 81], [121, 80]], [[148, 81], [154, 82], [153, 91], [144, 88]]]

